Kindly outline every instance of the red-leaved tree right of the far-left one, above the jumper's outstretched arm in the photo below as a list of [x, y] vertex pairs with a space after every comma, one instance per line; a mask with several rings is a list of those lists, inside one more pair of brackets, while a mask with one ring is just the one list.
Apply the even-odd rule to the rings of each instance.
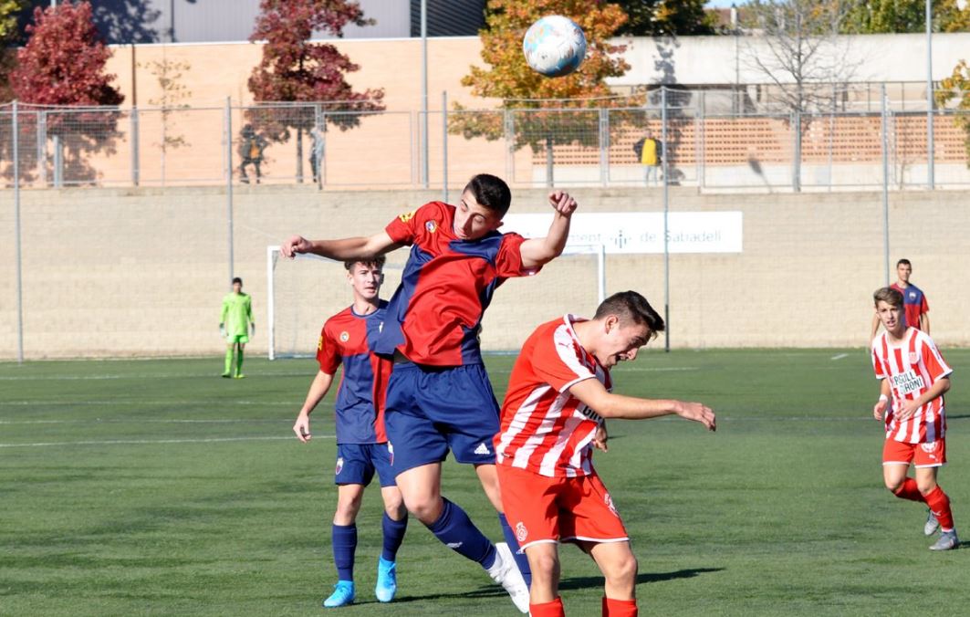
[[[260, 16], [249, 37], [265, 41], [263, 59], [249, 77], [249, 91], [259, 103], [325, 103], [327, 123], [347, 130], [360, 124], [360, 114], [379, 112], [383, 88], [355, 92], [344, 78], [360, 67], [328, 43], [310, 43], [313, 32], [343, 36], [348, 23], [373, 23], [350, 0], [261, 0]], [[334, 113], [332, 113], [334, 112]], [[247, 114], [272, 142], [285, 142], [297, 132], [298, 174], [302, 170], [303, 133], [316, 123], [312, 106], [271, 107]]]

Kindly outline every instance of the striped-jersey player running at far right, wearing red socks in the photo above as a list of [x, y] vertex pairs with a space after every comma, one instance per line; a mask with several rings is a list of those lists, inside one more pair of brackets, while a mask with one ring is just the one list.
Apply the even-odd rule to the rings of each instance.
[[[947, 462], [943, 395], [950, 390], [953, 369], [929, 335], [906, 327], [903, 296], [897, 289], [883, 287], [873, 299], [876, 315], [886, 329], [872, 341], [872, 365], [881, 380], [879, 402], [872, 413], [886, 423], [886, 488], [900, 499], [929, 507], [923, 532], [930, 536], [937, 527], [941, 531], [930, 550], [956, 548], [959, 539], [950, 498], [936, 483], [937, 471]], [[911, 463], [916, 467], [916, 479], [907, 475]]]

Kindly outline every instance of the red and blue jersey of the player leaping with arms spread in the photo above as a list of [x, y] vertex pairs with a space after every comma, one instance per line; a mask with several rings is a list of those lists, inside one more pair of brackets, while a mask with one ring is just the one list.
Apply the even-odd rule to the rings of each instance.
[[412, 362], [438, 367], [481, 364], [478, 332], [496, 288], [506, 278], [538, 271], [522, 266], [522, 236], [493, 231], [460, 240], [454, 221], [454, 206], [431, 202], [387, 226], [391, 239], [410, 245], [411, 253], [377, 353], [397, 349]]

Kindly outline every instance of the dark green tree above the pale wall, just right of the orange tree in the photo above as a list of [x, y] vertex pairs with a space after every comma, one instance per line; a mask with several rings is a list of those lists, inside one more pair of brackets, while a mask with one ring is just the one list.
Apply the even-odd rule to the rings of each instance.
[[704, 0], [615, 0], [628, 20], [618, 35], [634, 37], [717, 34]]

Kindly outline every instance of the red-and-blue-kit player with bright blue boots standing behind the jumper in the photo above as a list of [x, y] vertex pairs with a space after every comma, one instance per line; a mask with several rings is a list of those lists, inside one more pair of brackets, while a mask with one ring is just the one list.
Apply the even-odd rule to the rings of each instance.
[[397, 591], [397, 554], [404, 531], [407, 511], [401, 491], [394, 483], [391, 455], [384, 430], [384, 392], [391, 363], [372, 353], [372, 342], [384, 322], [387, 303], [380, 300], [381, 272], [384, 258], [372, 261], [348, 261], [347, 280], [353, 289], [353, 304], [331, 317], [323, 325], [317, 343], [316, 373], [300, 409], [293, 432], [306, 443], [310, 439], [309, 414], [327, 395], [334, 374], [343, 366], [337, 391], [337, 512], [331, 538], [338, 582], [334, 593], [323, 601], [328, 608], [352, 604], [354, 588], [354, 552], [357, 549], [357, 513], [364, 489], [371, 483], [374, 471], [380, 481], [384, 500], [381, 524], [384, 546], [377, 561], [377, 600], [389, 602]]

